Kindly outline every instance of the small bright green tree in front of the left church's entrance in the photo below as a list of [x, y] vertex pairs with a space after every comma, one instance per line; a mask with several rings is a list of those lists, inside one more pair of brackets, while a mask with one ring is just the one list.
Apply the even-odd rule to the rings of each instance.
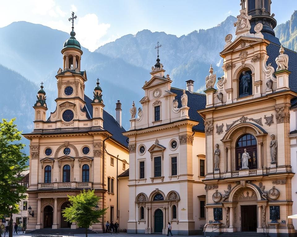
[[98, 209], [98, 202], [101, 197], [95, 195], [95, 190], [85, 189], [76, 196], [69, 196], [70, 207], [66, 207], [62, 211], [63, 217], [68, 222], [76, 222], [79, 227], [86, 229], [86, 237], [88, 236], [88, 228], [90, 225], [100, 222], [107, 208]]

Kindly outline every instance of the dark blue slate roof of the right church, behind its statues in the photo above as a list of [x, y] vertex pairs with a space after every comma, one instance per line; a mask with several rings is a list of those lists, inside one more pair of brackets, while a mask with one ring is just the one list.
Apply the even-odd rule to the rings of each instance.
[[[267, 64], [271, 63], [271, 66], [273, 66], [275, 72], [277, 68], [277, 64], [275, 62], [275, 59], [279, 55], [279, 49], [281, 48], [280, 45], [271, 43], [266, 47], [267, 55], [269, 56], [267, 60]], [[285, 54], [289, 56], [289, 71], [291, 74], [289, 75], [289, 87], [292, 91], [297, 92], [297, 53], [285, 48]], [[294, 98], [291, 100], [291, 105], [295, 106], [297, 102], [297, 98]]]

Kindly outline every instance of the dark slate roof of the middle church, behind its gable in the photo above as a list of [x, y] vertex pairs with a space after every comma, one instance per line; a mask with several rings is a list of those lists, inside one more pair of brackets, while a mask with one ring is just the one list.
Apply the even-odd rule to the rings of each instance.
[[[177, 94], [175, 99], [179, 102], [179, 108], [182, 107], [181, 96], [183, 95], [183, 89], [171, 87], [170, 91], [174, 94]], [[206, 95], [191, 93], [188, 90], [186, 90], [186, 94], [188, 96], [188, 106], [190, 107], [189, 117], [191, 120], [199, 122], [199, 124], [197, 126], [194, 126], [193, 129], [196, 131], [204, 132], [204, 120], [200, 116], [200, 114], [197, 113], [197, 110], [205, 109]]]

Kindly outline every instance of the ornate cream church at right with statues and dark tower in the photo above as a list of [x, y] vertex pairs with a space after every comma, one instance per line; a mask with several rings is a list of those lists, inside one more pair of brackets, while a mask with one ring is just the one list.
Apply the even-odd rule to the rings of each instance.
[[198, 112], [205, 120], [207, 234], [295, 235], [288, 216], [297, 211], [291, 151], [297, 56], [275, 37], [270, 6], [268, 0], [241, 1], [236, 38], [227, 35], [220, 52], [224, 75], [217, 89], [216, 75], [210, 70], [206, 77], [206, 106]]

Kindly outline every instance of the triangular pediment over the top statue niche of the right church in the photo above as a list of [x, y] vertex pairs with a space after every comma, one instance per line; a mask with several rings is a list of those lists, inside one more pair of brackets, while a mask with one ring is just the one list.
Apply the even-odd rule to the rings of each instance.
[[220, 55], [222, 56], [224, 54], [234, 52], [236, 50], [253, 47], [255, 43], [260, 43], [263, 41], [266, 40], [261, 38], [240, 36], [239, 38], [236, 38], [232, 43], [230, 43], [226, 48], [224, 48], [224, 50], [220, 52]]

